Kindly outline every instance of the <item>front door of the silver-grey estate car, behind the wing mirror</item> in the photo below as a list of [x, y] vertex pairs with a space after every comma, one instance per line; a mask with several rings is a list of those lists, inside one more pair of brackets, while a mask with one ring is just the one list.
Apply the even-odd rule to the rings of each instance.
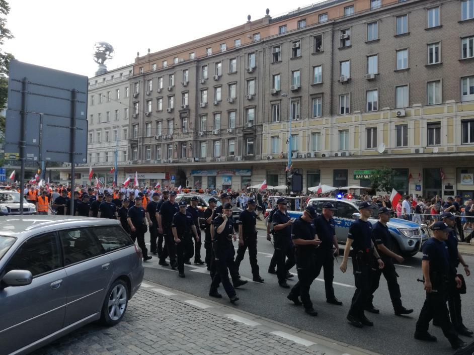
[[10, 353], [63, 327], [68, 280], [56, 232], [26, 240], [3, 272], [29, 270], [27, 286], [0, 288], [0, 353]]

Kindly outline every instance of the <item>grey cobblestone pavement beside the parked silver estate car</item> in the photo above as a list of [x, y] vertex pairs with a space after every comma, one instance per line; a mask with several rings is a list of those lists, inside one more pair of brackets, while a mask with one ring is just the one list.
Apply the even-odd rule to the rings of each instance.
[[[281, 328], [278, 327], [262, 326], [260, 319], [254, 318], [256, 321], [252, 321], [248, 319], [249, 315], [244, 318], [224, 314], [232, 311], [230, 307], [234, 306], [220, 305], [221, 308], [218, 310], [217, 304], [213, 305], [208, 300], [203, 300], [206, 303], [202, 303], [200, 302], [202, 299], [187, 294], [179, 295], [178, 292], [174, 293], [174, 290], [151, 288], [153, 286], [147, 284], [143, 286], [146, 288], [142, 287], [131, 299], [124, 318], [116, 326], [89, 324], [33, 353], [36, 355], [365, 353], [351, 351], [353, 349], [341, 345], [341, 349], [334, 350], [321, 343], [307, 340], [308, 336], [304, 339], [281, 332]], [[293, 333], [295, 330], [293, 328]], [[292, 336], [293, 340], [299, 343], [289, 340]], [[325, 341], [319, 340], [323, 343]], [[336, 345], [329, 341], [327, 344]]]

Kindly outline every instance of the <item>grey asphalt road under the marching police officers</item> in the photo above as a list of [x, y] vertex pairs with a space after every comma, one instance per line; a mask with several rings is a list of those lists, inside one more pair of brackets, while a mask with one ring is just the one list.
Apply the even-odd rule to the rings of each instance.
[[[146, 235], [146, 240], [149, 240], [148, 238], [149, 234]], [[234, 245], [237, 246], [237, 243], [235, 242]], [[287, 300], [286, 295], [289, 290], [278, 286], [276, 275], [267, 273], [273, 246], [266, 240], [264, 231], [261, 230], [259, 230], [258, 250], [260, 275], [265, 279], [265, 283], [259, 284], [249, 281], [247, 285], [237, 290], [240, 298], [238, 302], [240, 309], [381, 354], [444, 355], [453, 352], [440, 328], [430, 327], [430, 332], [438, 337], [437, 343], [421, 342], [413, 338], [415, 323], [425, 299], [423, 285], [416, 281], [417, 278], [422, 277], [421, 253], [406, 260], [403, 265], [397, 266], [402, 302], [406, 308], [413, 308], [415, 312], [407, 317], [397, 317], [393, 314], [386, 282], [382, 276], [380, 287], [374, 297], [374, 306], [380, 309], [380, 314], [366, 312], [367, 317], [374, 322], [375, 326], [358, 329], [349, 325], [346, 320], [350, 301], [355, 290], [350, 261], [345, 274], [340, 272], [339, 265], [335, 263], [334, 289], [336, 297], [344, 303], [343, 306], [326, 303], [322, 274], [312, 284], [310, 296], [314, 308], [319, 313], [318, 317], [314, 318], [305, 314], [301, 306], [294, 306], [291, 301]], [[342, 252], [341, 249], [341, 254]], [[202, 253], [204, 253], [204, 246], [202, 247]], [[338, 259], [341, 262], [342, 256]], [[471, 265], [471, 270], [474, 271], [474, 257], [464, 256], [464, 259]], [[178, 277], [178, 273], [172, 271], [170, 267], [161, 267], [156, 257], [144, 264], [145, 280], [200, 297], [209, 297], [211, 280], [205, 265], [204, 267], [194, 264], [185, 265], [186, 278], [181, 279]], [[295, 268], [290, 272], [295, 273]], [[252, 279], [247, 253], [241, 263], [240, 274], [245, 280]], [[296, 279], [295, 276], [288, 282], [290, 286], [294, 285]], [[466, 278], [466, 283], [468, 293], [461, 296], [462, 314], [465, 325], [470, 329], [474, 329], [474, 302], [470, 296], [474, 289], [474, 277]], [[228, 303], [229, 300], [225, 296], [222, 286], [219, 288], [219, 292], [223, 295], [221, 302]], [[212, 300], [216, 301], [217, 299], [212, 298]], [[464, 337], [463, 340], [469, 342], [471, 338]]]

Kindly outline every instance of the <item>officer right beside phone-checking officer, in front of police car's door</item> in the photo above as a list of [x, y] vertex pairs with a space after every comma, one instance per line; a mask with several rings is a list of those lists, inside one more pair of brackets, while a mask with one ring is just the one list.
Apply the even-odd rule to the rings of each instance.
[[331, 202], [326, 202], [323, 204], [323, 214], [314, 220], [316, 234], [321, 240], [321, 245], [316, 249], [316, 277], [319, 276], [321, 268], [323, 268], [326, 302], [342, 306], [342, 302], [334, 295], [333, 287], [334, 258], [339, 254], [339, 244], [333, 219], [335, 209]]

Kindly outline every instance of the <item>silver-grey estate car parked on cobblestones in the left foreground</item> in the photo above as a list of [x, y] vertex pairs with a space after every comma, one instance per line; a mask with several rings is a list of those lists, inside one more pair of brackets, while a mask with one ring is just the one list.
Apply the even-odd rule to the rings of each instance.
[[0, 217], [0, 354], [26, 353], [95, 320], [118, 323], [143, 279], [117, 220]]

